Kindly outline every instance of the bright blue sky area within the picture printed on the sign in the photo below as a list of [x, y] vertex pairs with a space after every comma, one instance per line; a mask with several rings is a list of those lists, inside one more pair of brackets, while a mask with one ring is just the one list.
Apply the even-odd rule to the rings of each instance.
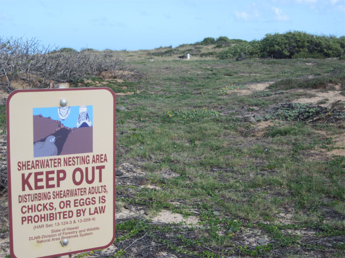
[[[90, 121], [93, 124], [93, 106], [86, 106], [87, 113], [89, 114]], [[59, 119], [58, 108], [34, 108], [33, 115], [42, 115], [43, 117], [49, 117], [53, 120], [59, 120], [63, 125], [69, 128], [74, 128], [77, 125], [77, 119], [79, 115], [79, 106], [70, 107], [69, 116], [65, 120]]]

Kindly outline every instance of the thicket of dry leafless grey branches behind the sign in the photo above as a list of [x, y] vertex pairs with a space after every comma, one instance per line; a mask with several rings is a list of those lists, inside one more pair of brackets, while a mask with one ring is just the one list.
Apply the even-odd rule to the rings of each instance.
[[35, 38], [0, 38], [0, 86], [7, 92], [14, 89], [14, 81], [46, 87], [51, 81], [73, 83], [104, 71], [115, 75], [123, 70], [123, 60], [107, 52], [63, 51], [44, 47]]

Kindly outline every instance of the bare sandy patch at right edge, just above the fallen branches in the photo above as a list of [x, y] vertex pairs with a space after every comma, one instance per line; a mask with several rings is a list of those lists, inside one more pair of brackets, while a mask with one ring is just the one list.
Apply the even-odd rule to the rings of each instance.
[[[297, 92], [305, 92], [305, 90], [297, 90]], [[338, 90], [330, 90], [330, 91], [318, 91], [318, 90], [308, 90], [308, 93], [312, 93], [316, 95], [315, 97], [311, 98], [300, 98], [296, 99], [294, 103], [311, 103], [316, 104], [321, 100], [325, 100], [326, 103], [320, 104], [321, 107], [329, 107], [335, 101], [345, 101], [345, 96], [341, 94], [341, 91]]]

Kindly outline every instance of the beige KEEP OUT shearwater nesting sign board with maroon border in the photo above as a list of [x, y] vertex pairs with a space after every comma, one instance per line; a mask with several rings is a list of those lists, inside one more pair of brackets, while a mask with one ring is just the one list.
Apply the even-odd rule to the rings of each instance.
[[12, 257], [102, 249], [115, 237], [115, 95], [15, 90], [7, 98]]

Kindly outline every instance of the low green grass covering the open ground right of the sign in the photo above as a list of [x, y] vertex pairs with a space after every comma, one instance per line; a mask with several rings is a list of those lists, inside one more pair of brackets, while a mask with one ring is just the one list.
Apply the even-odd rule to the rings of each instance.
[[[123, 83], [93, 78], [88, 85], [134, 92], [117, 96], [126, 110], [116, 112], [116, 163], [142, 173], [116, 178], [116, 203], [147, 216], [116, 221], [113, 257], [344, 256], [345, 159], [326, 154], [344, 133], [344, 118], [307, 123], [301, 117], [313, 117], [318, 107], [290, 103], [311, 95], [309, 88], [344, 84], [344, 63], [237, 62], [215, 59], [219, 51], [191, 45], [121, 51], [144, 76]], [[190, 60], [177, 59], [186, 53]], [[269, 89], [237, 93], [272, 81]], [[248, 114], [256, 121], [247, 122]], [[260, 121], [272, 126], [258, 129]], [[198, 223], [154, 221], [163, 210]]]

